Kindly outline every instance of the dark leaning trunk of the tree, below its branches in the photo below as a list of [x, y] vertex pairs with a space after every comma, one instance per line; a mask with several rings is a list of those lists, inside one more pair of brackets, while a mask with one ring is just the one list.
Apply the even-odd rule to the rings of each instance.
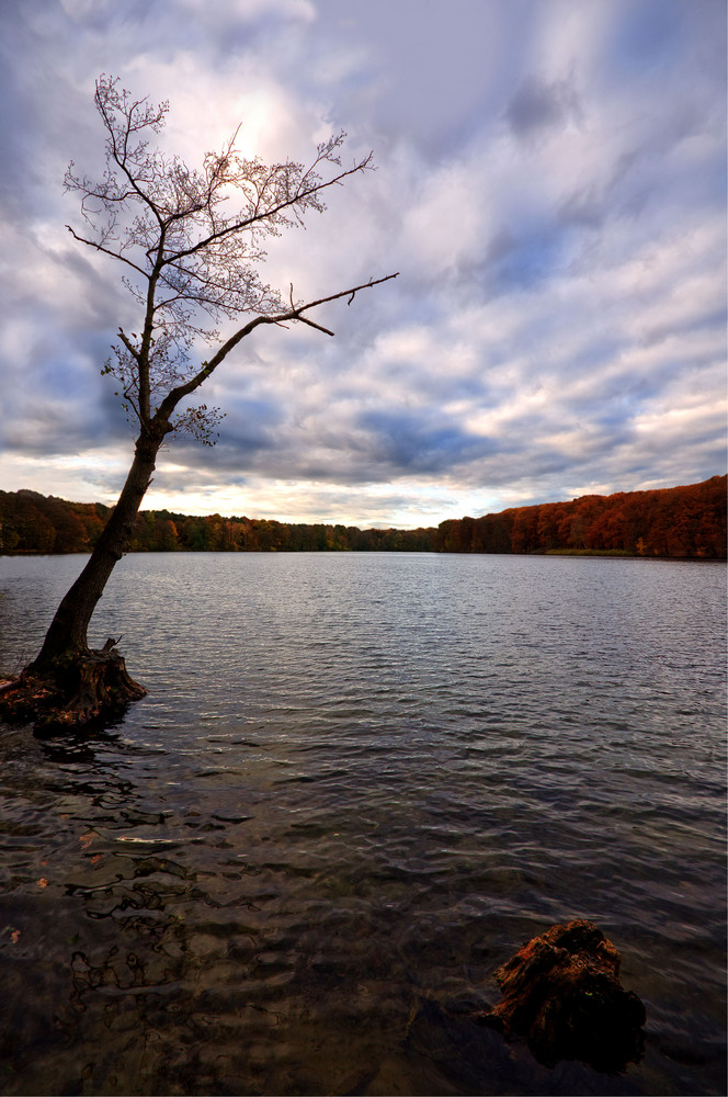
[[118, 501], [86, 567], [58, 607], [43, 647], [29, 670], [45, 670], [59, 658], [88, 652], [89, 622], [111, 573], [129, 543], [162, 438], [163, 434], [159, 438], [140, 434]]

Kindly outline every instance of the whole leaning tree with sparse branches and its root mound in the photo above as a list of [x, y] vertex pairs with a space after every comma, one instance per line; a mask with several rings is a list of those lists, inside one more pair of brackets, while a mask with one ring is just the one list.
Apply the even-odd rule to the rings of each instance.
[[136, 100], [107, 76], [96, 81], [94, 103], [105, 128], [106, 168], [93, 180], [69, 166], [65, 186], [80, 195], [83, 216], [78, 228], [68, 228], [79, 244], [121, 263], [136, 302], [136, 330], [120, 327], [102, 373], [117, 380], [138, 433], [116, 506], [38, 655], [0, 687], [0, 716], [46, 725], [103, 717], [145, 693], [126, 672], [116, 642], [91, 651], [87, 633], [128, 546], [160, 446], [182, 432], [208, 444], [214, 439], [219, 410], [190, 398], [261, 325], [296, 321], [331, 336], [310, 319], [311, 309], [342, 297], [351, 303], [360, 291], [397, 276], [308, 302], [294, 299], [293, 285], [284, 298], [261, 276], [266, 237], [302, 224], [308, 211], [323, 211], [328, 188], [372, 167], [371, 154], [342, 167], [345, 134], [319, 145], [310, 165], [265, 165], [239, 154], [236, 133], [195, 170], [155, 142], [168, 103]]

